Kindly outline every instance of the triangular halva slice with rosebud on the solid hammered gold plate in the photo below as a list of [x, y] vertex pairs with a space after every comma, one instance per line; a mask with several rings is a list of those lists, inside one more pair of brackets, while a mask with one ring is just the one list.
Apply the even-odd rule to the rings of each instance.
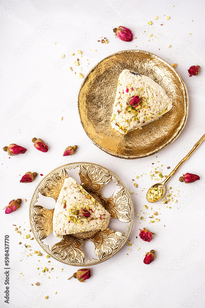
[[154, 80], [124, 70], [118, 79], [111, 125], [118, 132], [127, 134], [159, 119], [171, 107], [172, 100]]

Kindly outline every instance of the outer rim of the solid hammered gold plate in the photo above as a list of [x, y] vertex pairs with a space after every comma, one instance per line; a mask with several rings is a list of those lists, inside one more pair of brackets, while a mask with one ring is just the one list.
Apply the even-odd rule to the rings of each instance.
[[[81, 118], [81, 112], [80, 112], [80, 99], [79, 99], [79, 96], [80, 96], [80, 92], [83, 88], [83, 86], [85, 85], [85, 83], [87, 82], [88, 78], [89, 78], [89, 75], [91, 72], [93, 72], [99, 64], [101, 64], [103, 61], [105, 61], [106, 59], [109, 59], [111, 58], [112, 56], [114, 55], [119, 55], [119, 54], [122, 54], [122, 53], [130, 53], [130, 52], [136, 52], [136, 53], [144, 53], [146, 55], [150, 55], [150, 56], [155, 56], [156, 58], [160, 59], [162, 63], [166, 63], [166, 65], [168, 65], [171, 70], [173, 71], [173, 73], [175, 73], [180, 82], [181, 82], [181, 85], [183, 86], [183, 92], [184, 92], [184, 103], [185, 103], [185, 114], [184, 114], [184, 117], [183, 117], [183, 122], [182, 124], [179, 126], [179, 129], [177, 130], [177, 132], [165, 143], [163, 144], [162, 146], [156, 148], [154, 151], [150, 151], [144, 155], [141, 155], [141, 156], [138, 156], [138, 155], [132, 155], [132, 156], [126, 156], [126, 155], [121, 155], [121, 154], [118, 154], [118, 153], [113, 153], [111, 152], [110, 150], [104, 148], [103, 146], [99, 145], [90, 135], [89, 133], [86, 131], [85, 129], [85, 125], [83, 123], [83, 120]], [[122, 51], [118, 51], [112, 55], [108, 55], [107, 57], [105, 57], [104, 59], [102, 59], [101, 61], [99, 61], [96, 65], [94, 65], [91, 70], [86, 74], [83, 82], [81, 83], [81, 86], [79, 88], [79, 91], [78, 91], [78, 115], [79, 115], [79, 118], [80, 118], [80, 121], [81, 121], [81, 125], [86, 133], [86, 135], [89, 137], [89, 139], [93, 142], [93, 144], [95, 144], [98, 148], [100, 148], [102, 151], [108, 153], [109, 155], [112, 155], [112, 156], [115, 156], [115, 157], [118, 157], [118, 158], [124, 158], [124, 159], [139, 159], [139, 158], [143, 158], [143, 157], [148, 157], [148, 156], [151, 156], [151, 155], [154, 155], [158, 152], [160, 152], [161, 150], [163, 150], [165, 147], [167, 147], [169, 144], [171, 144], [178, 136], [179, 134], [182, 132], [185, 124], [186, 124], [186, 121], [187, 121], [187, 116], [188, 116], [188, 103], [189, 103], [189, 98], [188, 98], [188, 91], [187, 91], [187, 87], [186, 87], [186, 84], [185, 82], [183, 81], [183, 78], [180, 76], [180, 74], [164, 59], [162, 59], [161, 57], [159, 57], [158, 55], [152, 53], [152, 52], [149, 52], [149, 51], [145, 51], [145, 50], [140, 50], [140, 49], [130, 49], [130, 50], [122, 50]]]

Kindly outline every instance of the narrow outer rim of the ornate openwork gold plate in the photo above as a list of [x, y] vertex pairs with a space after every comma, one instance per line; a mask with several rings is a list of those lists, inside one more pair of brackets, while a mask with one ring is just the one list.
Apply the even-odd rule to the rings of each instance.
[[[68, 166], [70, 166], [70, 170], [71, 169], [75, 169], [77, 168], [78, 166], [80, 165], [87, 165], [87, 166], [97, 166], [97, 167], [100, 167], [104, 170], [106, 170], [107, 172], [109, 172], [111, 175], [112, 175], [112, 180], [114, 180], [114, 182], [116, 183], [116, 185], [120, 186], [121, 184], [121, 187], [124, 188], [126, 194], [127, 194], [127, 197], [129, 199], [129, 207], [131, 209], [131, 212], [130, 212], [130, 217], [132, 218], [130, 221], [127, 221], [127, 224], [125, 225], [125, 238], [123, 239], [123, 241], [120, 242], [119, 244], [119, 247], [111, 254], [109, 255], [108, 257], [105, 257], [103, 260], [99, 260], [99, 259], [88, 259], [87, 261], [85, 262], [76, 262], [76, 263], [71, 263], [71, 262], [68, 262], [68, 261], [64, 261], [62, 259], [60, 259], [59, 257], [56, 257], [55, 255], [53, 255], [50, 250], [49, 250], [49, 245], [45, 245], [41, 240], [39, 240], [38, 236], [37, 236], [37, 232], [35, 231], [34, 229], [34, 221], [33, 221], [33, 217], [32, 217], [32, 210], [33, 210], [33, 207], [34, 205], [37, 203], [37, 198], [35, 198], [35, 194], [37, 193], [38, 195], [38, 189], [40, 187], [42, 187], [43, 183], [45, 183], [45, 180], [46, 179], [49, 179], [50, 176], [57, 172], [57, 171], [60, 171], [60, 170], [63, 170], [63, 169], [69, 169]], [[117, 180], [117, 181], [116, 181]], [[108, 182], [109, 183], [109, 182]], [[106, 183], [106, 184], [108, 184]], [[106, 185], [105, 184], [105, 185]], [[113, 193], [114, 194], [114, 193]], [[111, 196], [112, 197], [112, 196]], [[110, 197], [110, 198], [111, 198]], [[109, 198], [108, 198], [109, 199]], [[104, 167], [104, 166], [101, 166], [99, 164], [95, 164], [95, 163], [90, 163], [90, 162], [72, 162], [72, 163], [68, 163], [68, 164], [65, 164], [65, 165], [61, 165], [55, 169], [53, 169], [52, 171], [50, 171], [46, 176], [44, 176], [44, 178], [39, 182], [39, 184], [37, 185], [37, 187], [35, 188], [35, 191], [34, 191], [34, 194], [31, 198], [31, 201], [30, 201], [30, 207], [29, 207], [29, 218], [30, 218], [30, 225], [31, 225], [31, 230], [34, 234], [34, 237], [35, 239], [37, 240], [38, 244], [41, 246], [41, 248], [47, 253], [49, 254], [49, 256], [53, 257], [54, 259], [56, 259], [57, 261], [60, 261], [64, 264], [67, 264], [67, 265], [73, 265], [73, 266], [90, 266], [90, 265], [95, 265], [95, 264], [99, 264], [99, 263], [102, 263], [106, 260], [108, 260], [109, 258], [111, 258], [112, 256], [114, 256], [124, 245], [125, 243], [127, 242], [128, 240], [128, 237], [132, 231], [132, 226], [133, 226], [133, 222], [134, 222], [134, 206], [133, 206], [133, 202], [132, 202], [132, 198], [130, 196], [130, 193], [128, 191], [128, 188], [126, 187], [126, 185], [123, 183], [123, 181], [112, 171], [110, 171], [108, 168]], [[52, 231], [51, 231], [52, 232]], [[115, 231], [115, 232], [119, 232], [119, 231]], [[62, 236], [62, 240], [63, 240], [63, 236]], [[62, 241], [61, 240], [61, 241]], [[94, 262], [92, 263], [92, 261], [94, 260]]]

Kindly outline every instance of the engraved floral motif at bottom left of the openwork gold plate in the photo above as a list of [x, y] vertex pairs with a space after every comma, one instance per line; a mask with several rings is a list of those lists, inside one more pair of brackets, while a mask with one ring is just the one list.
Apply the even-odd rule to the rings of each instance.
[[82, 263], [85, 259], [82, 251], [83, 243], [73, 235], [66, 235], [61, 242], [52, 246], [51, 253], [70, 263]]

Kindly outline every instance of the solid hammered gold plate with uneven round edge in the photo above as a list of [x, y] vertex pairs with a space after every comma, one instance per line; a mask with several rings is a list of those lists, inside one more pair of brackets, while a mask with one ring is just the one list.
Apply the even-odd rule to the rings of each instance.
[[[146, 75], [172, 99], [173, 107], [159, 120], [122, 135], [111, 127], [117, 81], [124, 69]], [[98, 148], [116, 157], [134, 159], [153, 155], [183, 130], [188, 115], [187, 87], [166, 61], [143, 50], [119, 51], [101, 60], [86, 75], [78, 93], [81, 124]]]

